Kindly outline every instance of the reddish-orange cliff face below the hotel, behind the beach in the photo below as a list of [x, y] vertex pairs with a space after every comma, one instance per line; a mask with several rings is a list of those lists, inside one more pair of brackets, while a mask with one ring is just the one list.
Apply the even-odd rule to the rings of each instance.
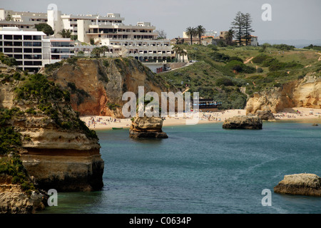
[[145, 93], [171, 90], [165, 81], [133, 58], [78, 58], [62, 61], [42, 69], [49, 80], [71, 93], [71, 105], [81, 115], [110, 115], [122, 118], [122, 95], [131, 91], [138, 95], [138, 86]]

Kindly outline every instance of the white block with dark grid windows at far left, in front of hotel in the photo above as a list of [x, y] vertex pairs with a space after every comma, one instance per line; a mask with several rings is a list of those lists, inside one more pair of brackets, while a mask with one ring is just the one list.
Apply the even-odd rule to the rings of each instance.
[[1, 28], [0, 52], [16, 58], [18, 68], [36, 72], [48, 63], [56, 63], [74, 55], [70, 38], [49, 38], [42, 31], [22, 31], [19, 28]]

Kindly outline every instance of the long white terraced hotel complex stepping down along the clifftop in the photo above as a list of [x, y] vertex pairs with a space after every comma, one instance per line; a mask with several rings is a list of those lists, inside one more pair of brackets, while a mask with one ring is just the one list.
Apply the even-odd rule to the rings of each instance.
[[[11, 21], [6, 21], [8, 15]], [[125, 25], [123, 21], [120, 14], [72, 15], [61, 14], [61, 11], [54, 9], [47, 10], [45, 14], [0, 9], [0, 28], [16, 26], [24, 31], [35, 31], [35, 24], [47, 23], [54, 29], [54, 36], [58, 36], [58, 31], [63, 28], [69, 29], [78, 41], [93, 41], [96, 46], [108, 46], [106, 56], [132, 56], [147, 66], [158, 63], [150, 66], [152, 70], [175, 58], [170, 40], [158, 39], [156, 27], [151, 23]]]

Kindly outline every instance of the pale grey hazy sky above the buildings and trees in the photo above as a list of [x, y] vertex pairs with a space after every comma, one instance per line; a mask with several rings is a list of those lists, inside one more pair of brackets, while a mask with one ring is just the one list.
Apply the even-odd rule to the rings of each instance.
[[[183, 36], [188, 26], [230, 28], [238, 11], [250, 13], [253, 35], [260, 40], [321, 39], [321, 0], [0, 0], [0, 8], [46, 12], [56, 4], [63, 14], [119, 13], [125, 24], [149, 21], [168, 38]], [[272, 21], [263, 21], [263, 4], [272, 6]]]

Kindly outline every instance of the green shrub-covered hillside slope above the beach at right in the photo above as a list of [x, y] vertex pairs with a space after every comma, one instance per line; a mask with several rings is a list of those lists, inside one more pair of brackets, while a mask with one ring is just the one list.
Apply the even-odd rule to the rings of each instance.
[[[321, 61], [317, 61], [320, 54], [316, 51], [307, 51], [305, 49], [295, 49], [293, 51], [283, 51], [276, 48], [268, 47], [265, 52], [260, 52], [260, 47], [227, 47], [218, 48], [214, 51], [211, 46], [199, 45], [182, 45], [188, 52], [189, 59], [196, 59], [198, 62], [192, 66], [180, 68], [176, 71], [161, 73], [159, 76], [166, 81], [173, 83], [180, 90], [185, 90], [188, 84], [190, 91], [197, 91], [200, 97], [214, 98], [223, 102], [223, 109], [228, 108], [244, 108], [246, 103], [246, 95], [240, 93], [240, 87], [246, 87], [246, 93], [253, 95], [254, 92], [271, 88], [274, 86], [282, 86], [289, 81], [296, 80], [305, 76], [309, 72], [317, 72], [320, 76]], [[223, 53], [230, 57], [236, 56], [244, 62], [251, 57], [259, 55], [267, 55], [275, 58], [281, 63], [298, 63], [297, 67], [284, 68], [280, 71], [269, 71], [268, 66], [262, 66], [252, 61], [246, 63], [246, 66], [253, 68], [262, 68], [262, 73], [233, 73], [228, 68], [228, 61], [215, 61], [213, 53]], [[305, 68], [304, 66], [310, 66]], [[226, 78], [231, 83], [223, 83], [221, 81]], [[189, 81], [188, 81], [189, 80]], [[181, 83], [183, 81], [183, 84]]]

